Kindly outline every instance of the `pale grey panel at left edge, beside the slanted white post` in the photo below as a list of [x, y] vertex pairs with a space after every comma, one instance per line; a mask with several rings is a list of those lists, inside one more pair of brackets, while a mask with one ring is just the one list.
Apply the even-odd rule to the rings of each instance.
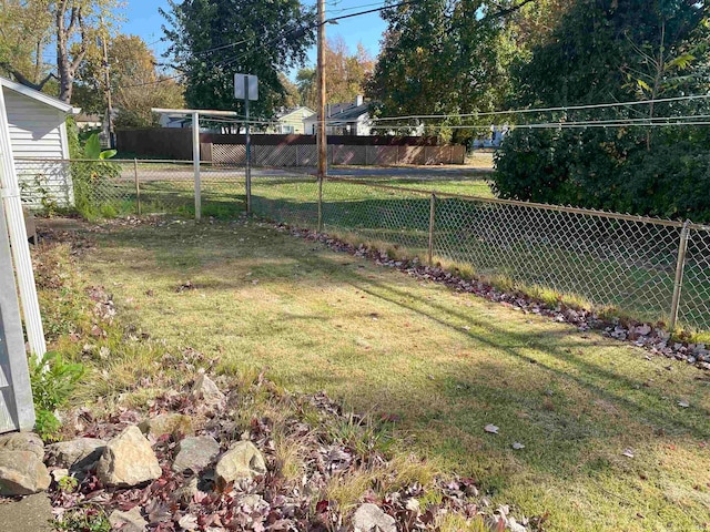
[[0, 433], [34, 426], [16, 286], [8, 226], [0, 205]]

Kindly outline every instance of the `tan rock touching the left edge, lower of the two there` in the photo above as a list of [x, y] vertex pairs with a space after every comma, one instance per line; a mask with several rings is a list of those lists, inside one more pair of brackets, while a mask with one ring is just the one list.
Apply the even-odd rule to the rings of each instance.
[[44, 463], [33, 451], [0, 451], [0, 495], [31, 495], [51, 482]]

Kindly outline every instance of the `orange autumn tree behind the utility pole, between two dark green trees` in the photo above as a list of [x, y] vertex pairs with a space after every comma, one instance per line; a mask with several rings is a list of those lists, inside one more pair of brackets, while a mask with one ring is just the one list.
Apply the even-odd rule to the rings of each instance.
[[[365, 94], [365, 84], [372, 75], [375, 61], [362, 43], [357, 44], [355, 53], [351, 53], [342, 37], [328, 39], [324, 55], [328, 103], [354, 102], [355, 96]], [[296, 74], [296, 84], [303, 105], [316, 109], [318, 93], [315, 69], [301, 69]]]

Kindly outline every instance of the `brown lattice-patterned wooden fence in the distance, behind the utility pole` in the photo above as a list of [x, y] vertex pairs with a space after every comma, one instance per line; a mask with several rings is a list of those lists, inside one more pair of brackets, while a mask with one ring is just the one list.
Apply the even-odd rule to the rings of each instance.
[[[202, 160], [213, 164], [246, 164], [243, 144], [202, 144]], [[464, 164], [465, 146], [328, 146], [328, 164], [397, 166], [402, 164], [437, 165]], [[254, 145], [252, 164], [255, 166], [316, 166], [315, 145]]]

